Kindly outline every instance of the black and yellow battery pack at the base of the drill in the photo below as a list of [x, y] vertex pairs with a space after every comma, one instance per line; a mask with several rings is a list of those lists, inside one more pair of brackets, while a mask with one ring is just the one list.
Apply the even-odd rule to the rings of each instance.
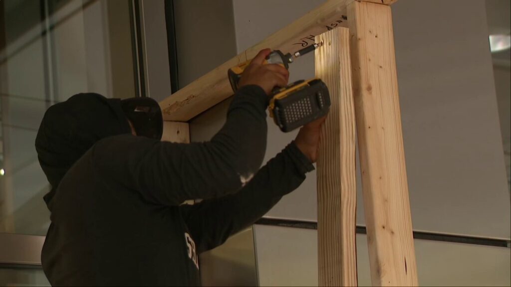
[[328, 113], [330, 93], [320, 79], [300, 80], [272, 93], [270, 117], [283, 131], [290, 132]]

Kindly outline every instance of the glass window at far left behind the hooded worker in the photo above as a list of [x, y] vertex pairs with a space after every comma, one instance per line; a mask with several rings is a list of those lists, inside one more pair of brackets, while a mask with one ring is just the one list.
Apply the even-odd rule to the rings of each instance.
[[79, 92], [135, 92], [130, 1], [0, 1], [0, 233], [45, 235], [34, 147], [45, 110]]

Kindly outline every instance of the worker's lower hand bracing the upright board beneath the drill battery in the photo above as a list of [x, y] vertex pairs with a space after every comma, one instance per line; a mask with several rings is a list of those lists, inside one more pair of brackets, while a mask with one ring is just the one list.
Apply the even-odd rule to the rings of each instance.
[[321, 137], [321, 126], [327, 116], [301, 127], [294, 142], [298, 149], [307, 156], [311, 162], [316, 162]]

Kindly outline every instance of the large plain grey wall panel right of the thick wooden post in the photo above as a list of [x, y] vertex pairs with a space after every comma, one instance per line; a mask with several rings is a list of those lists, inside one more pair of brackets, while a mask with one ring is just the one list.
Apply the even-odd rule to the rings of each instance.
[[403, 1], [393, 20], [413, 227], [509, 238], [484, 2]]

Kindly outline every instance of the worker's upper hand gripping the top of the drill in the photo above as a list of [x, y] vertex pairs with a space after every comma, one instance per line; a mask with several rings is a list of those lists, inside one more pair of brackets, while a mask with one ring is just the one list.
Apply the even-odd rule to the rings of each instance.
[[264, 59], [270, 53], [270, 49], [259, 51], [243, 71], [240, 87], [258, 85], [269, 95], [275, 86], [284, 87], [287, 85], [289, 71], [285, 67], [279, 64], [263, 64]]

